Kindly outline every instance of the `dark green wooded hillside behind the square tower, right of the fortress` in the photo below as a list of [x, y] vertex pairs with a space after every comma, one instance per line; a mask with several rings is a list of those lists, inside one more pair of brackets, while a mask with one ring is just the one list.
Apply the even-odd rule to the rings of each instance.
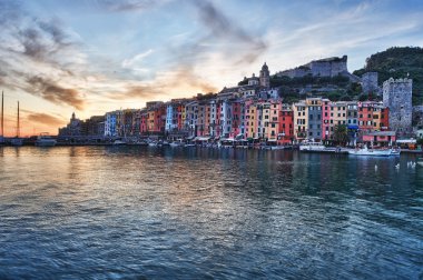
[[413, 104], [423, 104], [423, 49], [419, 47], [394, 47], [372, 54], [363, 69], [353, 73], [377, 72], [378, 84], [392, 78], [413, 79]]

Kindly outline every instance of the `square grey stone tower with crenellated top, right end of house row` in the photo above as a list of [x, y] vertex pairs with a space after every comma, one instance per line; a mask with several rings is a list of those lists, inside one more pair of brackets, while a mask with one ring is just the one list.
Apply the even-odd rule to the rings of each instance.
[[383, 104], [390, 108], [390, 129], [399, 136], [412, 132], [412, 79], [388, 79], [383, 83]]

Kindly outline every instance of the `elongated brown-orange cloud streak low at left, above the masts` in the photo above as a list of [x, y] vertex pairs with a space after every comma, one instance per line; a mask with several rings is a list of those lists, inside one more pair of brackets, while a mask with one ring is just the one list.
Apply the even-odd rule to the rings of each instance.
[[76, 89], [62, 88], [55, 81], [41, 77], [31, 77], [27, 82], [29, 84], [28, 92], [40, 96], [50, 102], [72, 106], [78, 110], [82, 110], [85, 107], [85, 101]]

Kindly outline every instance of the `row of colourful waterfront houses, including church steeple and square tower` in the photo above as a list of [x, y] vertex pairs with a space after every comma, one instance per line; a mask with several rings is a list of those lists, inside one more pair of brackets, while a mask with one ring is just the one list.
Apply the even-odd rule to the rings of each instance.
[[81, 121], [72, 114], [59, 137], [165, 137], [170, 139], [234, 139], [279, 144], [313, 139], [334, 140], [336, 126], [345, 126], [351, 142], [363, 139], [391, 142], [412, 132], [412, 80], [383, 83], [383, 101], [331, 101], [307, 98], [285, 103], [269, 88], [268, 68], [247, 84], [217, 94], [147, 102], [142, 109], [107, 112]]

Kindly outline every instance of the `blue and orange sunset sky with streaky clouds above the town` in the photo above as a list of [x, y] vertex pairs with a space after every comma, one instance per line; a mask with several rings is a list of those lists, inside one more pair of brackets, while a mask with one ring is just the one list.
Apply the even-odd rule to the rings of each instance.
[[0, 0], [4, 134], [218, 92], [244, 77], [423, 46], [420, 0]]

